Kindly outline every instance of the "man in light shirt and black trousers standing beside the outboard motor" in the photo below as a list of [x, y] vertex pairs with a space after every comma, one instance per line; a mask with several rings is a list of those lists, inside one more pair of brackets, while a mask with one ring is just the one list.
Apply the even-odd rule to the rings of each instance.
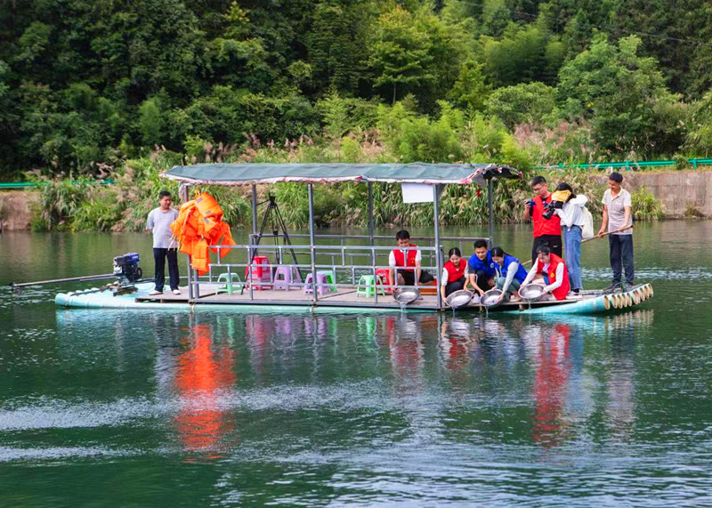
[[153, 262], [156, 266], [154, 282], [156, 287], [149, 294], [162, 294], [166, 281], [166, 258], [168, 259], [168, 280], [174, 294], [181, 294], [178, 289], [178, 245], [173, 238], [171, 223], [178, 218], [178, 211], [171, 208], [171, 193], [161, 190], [158, 194], [158, 208], [150, 211], [146, 231], [153, 233]]

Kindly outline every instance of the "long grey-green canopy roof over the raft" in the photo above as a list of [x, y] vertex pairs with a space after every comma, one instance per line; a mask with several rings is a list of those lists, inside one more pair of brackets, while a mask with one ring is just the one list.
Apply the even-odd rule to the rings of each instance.
[[390, 183], [482, 184], [491, 177], [519, 178], [521, 173], [494, 164], [197, 164], [176, 165], [164, 177], [188, 183], [250, 185], [278, 181], [336, 183], [385, 181]]

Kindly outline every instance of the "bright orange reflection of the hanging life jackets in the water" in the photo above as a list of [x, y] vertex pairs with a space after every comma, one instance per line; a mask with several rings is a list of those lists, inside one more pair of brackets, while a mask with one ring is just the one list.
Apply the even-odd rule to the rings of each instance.
[[180, 356], [176, 368], [175, 387], [182, 407], [175, 423], [184, 448], [215, 450], [225, 433], [234, 430], [217, 401], [219, 391], [236, 381], [234, 353], [228, 346], [213, 351], [208, 325], [193, 327], [193, 335], [192, 347]]

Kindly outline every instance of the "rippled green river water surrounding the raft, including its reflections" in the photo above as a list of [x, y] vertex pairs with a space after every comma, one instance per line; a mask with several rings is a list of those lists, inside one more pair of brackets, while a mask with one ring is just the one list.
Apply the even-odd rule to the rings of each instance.
[[[2, 286], [129, 251], [152, 270], [142, 235], [0, 238]], [[0, 506], [708, 506], [709, 238], [636, 225], [655, 297], [602, 317], [66, 310], [54, 294], [92, 285], [4, 288]], [[527, 259], [530, 230], [498, 243]], [[607, 255], [583, 247], [585, 286]]]

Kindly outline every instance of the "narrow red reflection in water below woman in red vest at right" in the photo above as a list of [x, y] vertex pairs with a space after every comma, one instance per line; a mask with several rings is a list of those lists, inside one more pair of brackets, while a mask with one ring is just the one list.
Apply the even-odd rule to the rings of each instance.
[[554, 446], [559, 443], [562, 427], [564, 387], [569, 377], [568, 325], [559, 324], [552, 330], [549, 339], [541, 338], [538, 345], [537, 377], [534, 381], [534, 440]]

